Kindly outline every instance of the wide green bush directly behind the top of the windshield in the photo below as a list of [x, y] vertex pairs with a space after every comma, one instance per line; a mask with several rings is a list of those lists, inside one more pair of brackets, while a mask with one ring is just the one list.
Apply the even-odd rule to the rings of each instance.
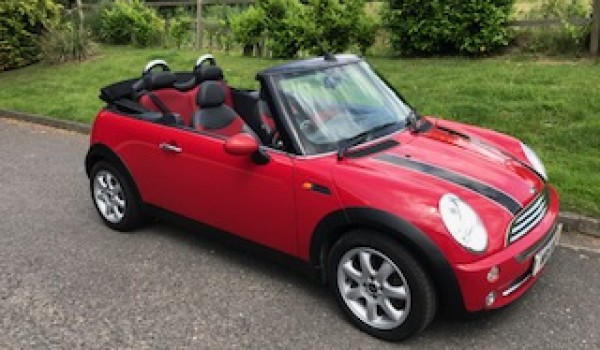
[[273, 57], [341, 52], [351, 45], [365, 52], [375, 40], [376, 25], [364, 6], [364, 0], [259, 0], [233, 16], [231, 28], [244, 46], [266, 40]]

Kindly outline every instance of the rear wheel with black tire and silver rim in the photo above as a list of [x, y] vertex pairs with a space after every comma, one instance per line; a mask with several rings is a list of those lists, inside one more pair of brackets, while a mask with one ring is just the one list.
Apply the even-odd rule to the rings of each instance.
[[94, 164], [90, 172], [90, 193], [106, 226], [129, 232], [145, 221], [143, 205], [134, 186], [125, 172], [111, 163]]

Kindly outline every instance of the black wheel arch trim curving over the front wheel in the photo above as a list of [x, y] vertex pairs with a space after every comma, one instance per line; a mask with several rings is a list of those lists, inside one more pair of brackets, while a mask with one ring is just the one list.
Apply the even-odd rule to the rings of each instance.
[[377, 209], [346, 208], [327, 215], [319, 222], [313, 232], [309, 261], [320, 271], [322, 282], [327, 280], [324, 266], [331, 247], [342, 235], [355, 229], [377, 231], [406, 247], [431, 276], [444, 311], [449, 314], [465, 312], [454, 270], [435, 243], [411, 223]]

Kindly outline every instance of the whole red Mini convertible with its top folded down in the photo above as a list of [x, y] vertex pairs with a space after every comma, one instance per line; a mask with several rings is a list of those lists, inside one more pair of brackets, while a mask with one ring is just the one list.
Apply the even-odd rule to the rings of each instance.
[[326, 55], [227, 85], [211, 55], [101, 90], [85, 167], [109, 227], [163, 213], [284, 253], [363, 331], [496, 309], [538, 279], [561, 226], [519, 140], [419, 116], [367, 62]]

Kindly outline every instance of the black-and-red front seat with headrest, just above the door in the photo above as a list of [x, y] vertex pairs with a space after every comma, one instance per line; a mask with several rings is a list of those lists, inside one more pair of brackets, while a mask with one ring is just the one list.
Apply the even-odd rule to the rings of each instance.
[[196, 96], [200, 110], [194, 113], [192, 127], [226, 137], [243, 131], [244, 121], [225, 104], [225, 89], [220, 82], [205, 81]]

